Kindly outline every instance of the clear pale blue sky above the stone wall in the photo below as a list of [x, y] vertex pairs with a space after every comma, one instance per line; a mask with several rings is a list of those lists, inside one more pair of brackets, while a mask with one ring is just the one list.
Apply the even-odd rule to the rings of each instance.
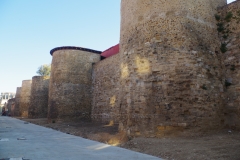
[[103, 51], [119, 37], [120, 0], [0, 0], [0, 92], [50, 64], [55, 47]]

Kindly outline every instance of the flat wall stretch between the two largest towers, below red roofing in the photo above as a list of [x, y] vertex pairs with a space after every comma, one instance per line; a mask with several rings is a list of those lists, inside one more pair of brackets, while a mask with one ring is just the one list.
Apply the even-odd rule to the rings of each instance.
[[119, 121], [120, 54], [94, 65], [92, 120], [105, 123]]

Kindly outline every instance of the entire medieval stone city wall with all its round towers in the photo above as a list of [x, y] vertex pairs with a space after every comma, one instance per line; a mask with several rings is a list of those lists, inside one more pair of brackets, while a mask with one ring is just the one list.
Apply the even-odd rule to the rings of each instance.
[[120, 53], [53, 49], [50, 81], [23, 81], [15, 110], [46, 117], [48, 105], [50, 121], [92, 118], [129, 135], [238, 129], [239, 24], [240, 1], [122, 0]]

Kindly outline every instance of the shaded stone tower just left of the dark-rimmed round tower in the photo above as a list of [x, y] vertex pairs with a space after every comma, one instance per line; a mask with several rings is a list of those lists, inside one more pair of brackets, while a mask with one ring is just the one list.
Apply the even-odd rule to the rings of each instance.
[[32, 78], [31, 98], [28, 108], [29, 118], [47, 118], [49, 77]]

